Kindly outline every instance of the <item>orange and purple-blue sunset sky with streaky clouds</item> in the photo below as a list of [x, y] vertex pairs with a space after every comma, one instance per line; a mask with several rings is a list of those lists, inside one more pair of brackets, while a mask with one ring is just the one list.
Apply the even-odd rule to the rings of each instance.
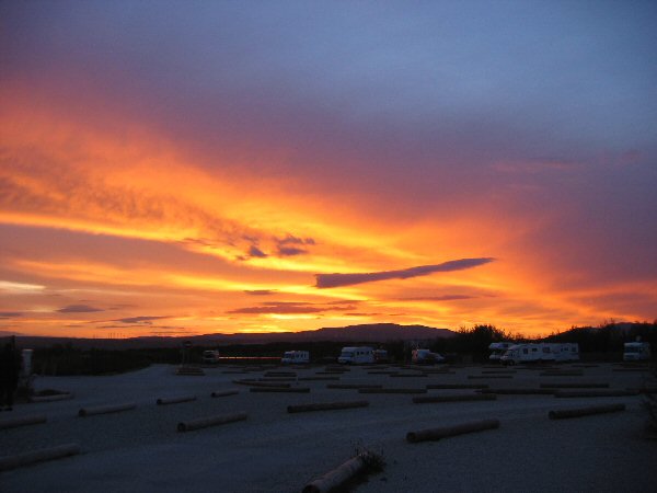
[[657, 318], [653, 1], [0, 3], [0, 335]]

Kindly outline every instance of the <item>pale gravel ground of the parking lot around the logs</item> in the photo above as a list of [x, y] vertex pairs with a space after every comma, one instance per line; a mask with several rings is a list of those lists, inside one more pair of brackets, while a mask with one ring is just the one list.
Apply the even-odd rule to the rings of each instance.
[[[0, 472], [0, 491], [11, 492], [300, 492], [313, 479], [368, 449], [381, 454], [384, 470], [357, 485], [357, 492], [654, 492], [657, 440], [643, 435], [642, 397], [561, 399], [553, 395], [498, 395], [494, 401], [414, 404], [411, 394], [362, 394], [328, 389], [327, 383], [379, 383], [425, 389], [429, 383], [487, 383], [538, 388], [545, 382], [608, 382], [612, 389], [638, 388], [647, 374], [620, 366], [562, 365], [581, 376], [541, 376], [517, 368], [510, 378], [489, 366], [452, 368], [452, 374], [419, 376], [389, 366], [407, 378], [372, 375], [351, 367], [339, 380], [296, 380], [310, 393], [254, 393], [235, 379], [264, 378], [267, 370], [318, 375], [325, 368], [205, 368], [205, 376], [175, 375], [175, 367], [152, 366], [110, 377], [39, 377], [39, 389], [74, 393], [58, 402], [19, 404], [9, 417], [45, 414], [47, 423], [0, 429], [0, 457], [77, 443], [81, 454]], [[469, 378], [474, 377], [474, 378]], [[212, 391], [237, 395], [211, 398]], [[431, 394], [473, 390], [428, 390]], [[160, 398], [195, 395], [193, 402], [157, 405]], [[287, 405], [367, 400], [370, 405], [339, 411], [289, 414]], [[79, 417], [81, 408], [132, 402], [136, 409]], [[573, 420], [549, 420], [554, 409], [625, 403], [626, 411]], [[246, 421], [187, 433], [177, 423], [244, 412]], [[498, 429], [440, 442], [410, 444], [407, 432], [483, 419]]]

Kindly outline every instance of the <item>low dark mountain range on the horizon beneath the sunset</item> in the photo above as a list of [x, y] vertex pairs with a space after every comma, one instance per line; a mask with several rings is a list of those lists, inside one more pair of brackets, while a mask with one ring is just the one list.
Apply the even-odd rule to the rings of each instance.
[[449, 329], [425, 325], [399, 325], [396, 323], [371, 323], [341, 328], [324, 328], [301, 332], [263, 332], [249, 334], [205, 334], [187, 337], [145, 336], [130, 339], [77, 339], [38, 337], [16, 335], [20, 347], [49, 347], [54, 344], [71, 344], [73, 347], [99, 349], [136, 349], [150, 347], [180, 347], [189, 341], [195, 346], [221, 346], [230, 344], [267, 344], [275, 342], [345, 342], [376, 343], [387, 341], [420, 341], [437, 337], [451, 337], [456, 333]]

